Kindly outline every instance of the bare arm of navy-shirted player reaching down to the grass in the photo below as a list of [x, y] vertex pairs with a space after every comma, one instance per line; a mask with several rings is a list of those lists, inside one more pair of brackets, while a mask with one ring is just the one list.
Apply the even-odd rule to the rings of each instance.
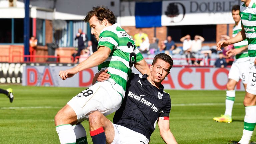
[[163, 120], [161, 118], [158, 118], [158, 127], [160, 130], [160, 135], [165, 143], [167, 144], [178, 144], [176, 142], [175, 137], [170, 131], [170, 125], [169, 120]]

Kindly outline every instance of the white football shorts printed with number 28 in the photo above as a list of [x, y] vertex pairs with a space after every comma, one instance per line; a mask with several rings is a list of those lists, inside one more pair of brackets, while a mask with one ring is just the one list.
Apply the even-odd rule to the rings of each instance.
[[94, 111], [109, 115], [115, 112], [122, 103], [122, 96], [112, 87], [109, 81], [98, 82], [73, 97], [67, 104], [77, 115], [77, 122], [88, 120]]

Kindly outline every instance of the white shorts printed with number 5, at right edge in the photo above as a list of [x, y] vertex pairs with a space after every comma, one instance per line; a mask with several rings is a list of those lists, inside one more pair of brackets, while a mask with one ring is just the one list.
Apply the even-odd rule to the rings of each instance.
[[250, 72], [246, 92], [256, 95], [256, 66], [250, 63]]

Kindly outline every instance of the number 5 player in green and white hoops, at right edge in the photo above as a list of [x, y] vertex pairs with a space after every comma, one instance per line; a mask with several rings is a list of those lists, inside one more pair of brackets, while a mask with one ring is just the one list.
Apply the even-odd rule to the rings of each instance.
[[248, 54], [250, 57], [249, 78], [244, 98], [245, 117], [244, 130], [240, 144], [248, 144], [256, 124], [256, 0], [241, 0], [240, 17], [242, 30], [232, 39], [219, 41], [218, 50], [222, 46], [248, 40]]

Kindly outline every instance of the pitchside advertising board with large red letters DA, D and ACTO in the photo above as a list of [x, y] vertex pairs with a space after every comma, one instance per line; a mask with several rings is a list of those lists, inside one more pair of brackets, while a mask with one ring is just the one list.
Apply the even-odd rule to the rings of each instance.
[[[71, 67], [24, 66], [23, 68], [22, 85], [24, 86], [89, 87], [97, 73], [97, 67], [94, 67], [63, 81], [58, 75], [59, 71]], [[133, 72], [138, 73], [136, 69]], [[173, 90], [225, 90], [228, 72], [229, 68], [174, 67], [162, 84], [165, 89]], [[244, 90], [240, 81], [236, 90]]]

